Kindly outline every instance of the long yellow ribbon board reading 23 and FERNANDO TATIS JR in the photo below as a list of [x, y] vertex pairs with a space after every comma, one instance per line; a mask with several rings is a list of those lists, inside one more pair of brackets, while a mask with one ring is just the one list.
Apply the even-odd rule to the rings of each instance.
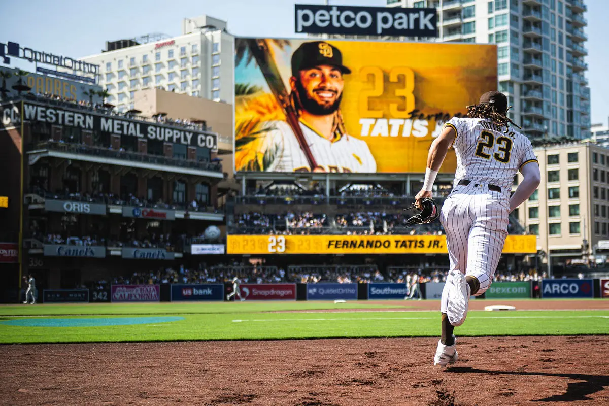
[[[536, 253], [536, 236], [507, 236], [504, 254]], [[446, 236], [227, 236], [227, 254], [447, 254]]]

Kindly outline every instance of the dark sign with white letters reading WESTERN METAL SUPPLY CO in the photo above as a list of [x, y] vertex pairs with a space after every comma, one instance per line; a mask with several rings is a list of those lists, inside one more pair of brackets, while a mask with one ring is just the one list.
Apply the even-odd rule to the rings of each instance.
[[[57, 79], [59, 80], [59, 79]], [[83, 97], [86, 100], [86, 97]], [[21, 107], [19, 105], [19, 107]], [[48, 124], [64, 125], [114, 135], [127, 135], [138, 139], [157, 140], [171, 144], [187, 145], [190, 147], [208, 148], [217, 151], [218, 136], [216, 133], [188, 128], [178, 130], [170, 125], [141, 119], [130, 119], [123, 116], [108, 116], [90, 110], [72, 110], [69, 107], [48, 107], [35, 102], [24, 102], [23, 112], [25, 121], [37, 121]], [[2, 117], [6, 127], [21, 124], [20, 108], [5, 107]]]

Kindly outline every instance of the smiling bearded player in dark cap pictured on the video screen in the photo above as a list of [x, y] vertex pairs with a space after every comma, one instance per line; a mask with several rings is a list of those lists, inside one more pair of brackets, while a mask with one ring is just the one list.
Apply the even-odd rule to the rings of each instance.
[[340, 113], [343, 75], [351, 71], [342, 63], [339, 49], [324, 41], [301, 44], [292, 54], [290, 102], [298, 124], [317, 163], [310, 168], [306, 155], [285, 121], [269, 121], [259, 155], [262, 170], [269, 172], [376, 172], [376, 161], [361, 139], [347, 134]]

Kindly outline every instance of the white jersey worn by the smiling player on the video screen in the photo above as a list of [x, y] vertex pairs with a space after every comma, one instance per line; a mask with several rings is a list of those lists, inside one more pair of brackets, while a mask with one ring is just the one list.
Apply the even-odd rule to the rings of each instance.
[[[264, 128], [269, 129], [259, 153], [266, 156], [267, 172], [294, 172], [305, 169], [311, 171], [305, 153], [287, 122], [270, 121]], [[317, 131], [300, 121], [300, 128], [308, 141], [315, 163], [326, 172], [376, 172], [376, 161], [368, 149], [368, 144], [350, 135], [329, 141]]]

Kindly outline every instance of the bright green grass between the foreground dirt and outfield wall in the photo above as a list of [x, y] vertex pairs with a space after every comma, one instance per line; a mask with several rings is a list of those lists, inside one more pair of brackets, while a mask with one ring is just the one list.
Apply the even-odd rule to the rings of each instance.
[[[251, 340], [329, 337], [436, 337], [434, 312], [383, 311], [395, 305], [332, 302], [83, 304], [0, 307], [0, 343]], [[376, 309], [376, 312], [276, 310]], [[168, 323], [29, 327], [9, 320], [178, 316]], [[56, 320], [60, 321], [60, 320]], [[609, 310], [472, 311], [459, 336], [609, 334]]]

